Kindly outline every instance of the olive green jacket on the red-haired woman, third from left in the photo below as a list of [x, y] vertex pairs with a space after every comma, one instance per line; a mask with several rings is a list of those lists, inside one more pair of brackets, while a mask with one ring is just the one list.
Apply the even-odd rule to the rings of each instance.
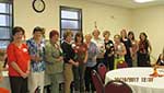
[[58, 44], [48, 42], [45, 48], [46, 58], [46, 73], [58, 73], [63, 70], [63, 60], [59, 61], [58, 58], [62, 56], [61, 48]]

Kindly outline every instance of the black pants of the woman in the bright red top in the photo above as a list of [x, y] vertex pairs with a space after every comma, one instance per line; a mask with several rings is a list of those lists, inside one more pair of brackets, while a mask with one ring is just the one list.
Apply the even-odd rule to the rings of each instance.
[[10, 77], [11, 93], [27, 93], [27, 78]]

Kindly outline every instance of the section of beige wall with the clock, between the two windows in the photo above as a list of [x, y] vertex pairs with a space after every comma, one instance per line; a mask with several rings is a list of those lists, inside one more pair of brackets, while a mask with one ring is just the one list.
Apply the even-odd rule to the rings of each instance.
[[[32, 31], [35, 26], [43, 26], [47, 31], [57, 28], [59, 25], [59, 8], [56, 1], [45, 0], [46, 10], [43, 13], [36, 13], [32, 8], [33, 0], [14, 0], [14, 25], [22, 26], [26, 31], [26, 37], [32, 37]], [[46, 34], [48, 34], [46, 32]]]

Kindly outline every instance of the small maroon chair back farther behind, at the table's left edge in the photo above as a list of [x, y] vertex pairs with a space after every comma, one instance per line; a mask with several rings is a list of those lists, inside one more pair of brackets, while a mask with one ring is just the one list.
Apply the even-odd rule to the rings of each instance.
[[98, 70], [98, 74], [99, 74], [99, 77], [104, 83], [105, 82], [105, 74], [107, 72], [106, 66], [104, 63], [99, 63], [97, 70]]

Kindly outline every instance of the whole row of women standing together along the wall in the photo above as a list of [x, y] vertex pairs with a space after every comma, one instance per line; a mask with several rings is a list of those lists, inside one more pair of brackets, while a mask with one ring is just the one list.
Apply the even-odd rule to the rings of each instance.
[[25, 31], [20, 26], [13, 28], [13, 40], [7, 49], [12, 93], [34, 93], [37, 88], [43, 93], [45, 73], [50, 79], [51, 93], [59, 93], [58, 79], [61, 77], [65, 78], [65, 93], [70, 93], [72, 81], [75, 93], [94, 92], [91, 71], [98, 63], [104, 63], [109, 70], [117, 69], [119, 61], [126, 61], [128, 67], [150, 66], [152, 48], [145, 33], [141, 33], [137, 42], [133, 32], [127, 35], [122, 30], [113, 42], [109, 31], [103, 33], [102, 39], [101, 32], [94, 30], [85, 36], [77, 33], [73, 40], [73, 33], [68, 30], [61, 45], [58, 31], [49, 33], [47, 43], [43, 33], [42, 27], [35, 27], [33, 37], [24, 43]]

